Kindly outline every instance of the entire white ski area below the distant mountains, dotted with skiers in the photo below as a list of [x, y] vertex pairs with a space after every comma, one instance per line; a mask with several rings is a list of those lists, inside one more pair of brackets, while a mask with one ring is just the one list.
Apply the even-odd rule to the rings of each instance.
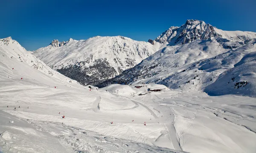
[[0, 152], [256, 152], [255, 98], [159, 84], [90, 89], [6, 41], [0, 41]]

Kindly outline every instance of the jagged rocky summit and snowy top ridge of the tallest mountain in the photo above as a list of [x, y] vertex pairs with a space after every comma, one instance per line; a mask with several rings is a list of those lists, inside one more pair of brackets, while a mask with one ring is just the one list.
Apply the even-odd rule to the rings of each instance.
[[187, 20], [186, 23], [180, 27], [171, 26], [158, 36], [155, 41], [159, 43], [168, 42], [169, 45], [182, 45], [195, 40], [207, 40], [211, 37], [237, 40], [244, 43], [244, 41], [256, 38], [256, 33], [223, 31], [201, 20]]

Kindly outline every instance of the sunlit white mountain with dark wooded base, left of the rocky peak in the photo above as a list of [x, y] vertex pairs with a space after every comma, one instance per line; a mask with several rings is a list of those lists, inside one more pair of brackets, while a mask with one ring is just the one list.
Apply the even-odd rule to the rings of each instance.
[[159, 47], [160, 43], [153, 46], [122, 36], [97, 36], [79, 41], [72, 38], [67, 42], [53, 40], [33, 55], [81, 84], [95, 84], [134, 67]]

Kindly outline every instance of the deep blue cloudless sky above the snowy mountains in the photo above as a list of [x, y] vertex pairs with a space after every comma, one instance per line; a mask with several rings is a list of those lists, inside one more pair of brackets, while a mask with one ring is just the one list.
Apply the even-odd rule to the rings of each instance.
[[11, 36], [27, 50], [96, 35], [147, 41], [187, 19], [256, 32], [256, 0], [0, 1], [0, 38]]

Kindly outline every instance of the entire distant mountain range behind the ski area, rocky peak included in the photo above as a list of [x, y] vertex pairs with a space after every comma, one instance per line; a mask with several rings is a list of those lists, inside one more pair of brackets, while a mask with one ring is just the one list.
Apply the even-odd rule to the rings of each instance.
[[83, 85], [164, 84], [210, 95], [256, 96], [256, 33], [223, 31], [200, 20], [148, 42], [122, 36], [59, 42], [32, 52]]

